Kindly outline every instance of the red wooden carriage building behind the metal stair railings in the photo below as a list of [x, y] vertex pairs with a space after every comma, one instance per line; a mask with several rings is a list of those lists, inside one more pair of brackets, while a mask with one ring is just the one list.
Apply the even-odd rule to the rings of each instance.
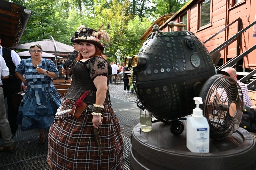
[[[211, 52], [224, 41], [230, 39], [237, 32], [254, 22], [256, 13], [254, 5], [255, 0], [191, 0], [177, 13], [172, 15], [171, 18], [166, 20], [160, 26], [160, 30], [164, 32], [170, 31], [170, 28], [167, 26], [170, 21], [175, 23], [184, 22], [187, 25], [187, 30], [195, 33], [204, 42], [208, 51]], [[211, 36], [226, 26], [228, 28], [211, 38]], [[174, 29], [174, 31], [180, 30], [182, 29], [177, 27]], [[143, 42], [144, 37], [141, 40]], [[253, 37], [252, 26], [220, 51], [220, 61], [226, 63], [255, 44], [256, 37]], [[255, 56], [256, 50], [250, 52], [239, 62], [240, 67], [256, 68]], [[220, 63], [220, 65], [222, 64]]]

